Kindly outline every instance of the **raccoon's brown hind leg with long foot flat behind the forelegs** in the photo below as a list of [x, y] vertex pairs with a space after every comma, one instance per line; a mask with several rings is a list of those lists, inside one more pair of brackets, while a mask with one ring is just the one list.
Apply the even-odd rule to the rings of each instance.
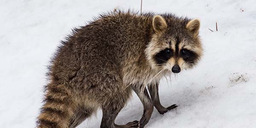
[[114, 123], [116, 116], [125, 106], [128, 98], [131, 96], [131, 88], [123, 86], [122, 79], [118, 76], [110, 76], [106, 79], [106, 90], [102, 97], [102, 122], [100, 128], [137, 128], [138, 121], [129, 122], [126, 125], [116, 125]]

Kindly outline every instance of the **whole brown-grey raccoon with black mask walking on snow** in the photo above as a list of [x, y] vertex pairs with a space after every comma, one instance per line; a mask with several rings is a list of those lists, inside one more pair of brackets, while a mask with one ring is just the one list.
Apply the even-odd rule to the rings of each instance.
[[[202, 56], [200, 21], [172, 14], [115, 11], [73, 30], [52, 58], [37, 128], [75, 128], [102, 109], [100, 128], [143, 128], [165, 75], [194, 67]], [[143, 107], [140, 121], [114, 123], [132, 90]]]

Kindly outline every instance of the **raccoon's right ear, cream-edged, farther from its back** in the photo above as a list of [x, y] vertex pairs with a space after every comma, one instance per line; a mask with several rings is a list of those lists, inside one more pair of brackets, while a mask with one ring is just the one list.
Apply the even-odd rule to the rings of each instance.
[[186, 24], [186, 29], [188, 29], [189, 32], [192, 32], [193, 35], [195, 36], [198, 36], [199, 28], [200, 28], [200, 20], [198, 19], [190, 20], [189, 23]]

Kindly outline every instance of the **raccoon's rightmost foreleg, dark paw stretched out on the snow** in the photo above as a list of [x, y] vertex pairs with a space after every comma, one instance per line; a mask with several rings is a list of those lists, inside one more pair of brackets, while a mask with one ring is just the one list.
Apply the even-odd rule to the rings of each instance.
[[165, 107], [163, 107], [163, 105], [161, 105], [160, 99], [159, 99], [159, 93], [158, 93], [158, 83], [151, 84], [150, 86], [148, 86], [148, 91], [150, 93], [151, 100], [153, 102], [154, 107], [157, 108], [157, 111], [160, 114], [164, 114], [167, 111], [172, 110], [177, 107], [177, 105], [171, 105], [171, 106], [165, 108]]

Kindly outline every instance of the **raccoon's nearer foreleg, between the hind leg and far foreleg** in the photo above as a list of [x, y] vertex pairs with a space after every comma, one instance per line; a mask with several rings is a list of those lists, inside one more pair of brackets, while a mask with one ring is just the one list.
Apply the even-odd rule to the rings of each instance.
[[144, 126], [148, 123], [148, 121], [152, 115], [154, 105], [148, 95], [148, 91], [146, 90], [146, 88], [142, 91], [141, 87], [143, 87], [143, 86], [137, 86], [137, 87], [132, 87], [132, 88], [133, 88], [134, 92], [137, 94], [137, 96], [139, 96], [140, 101], [143, 104], [144, 111], [143, 111], [143, 115], [139, 122], [139, 128], [144, 128]]

